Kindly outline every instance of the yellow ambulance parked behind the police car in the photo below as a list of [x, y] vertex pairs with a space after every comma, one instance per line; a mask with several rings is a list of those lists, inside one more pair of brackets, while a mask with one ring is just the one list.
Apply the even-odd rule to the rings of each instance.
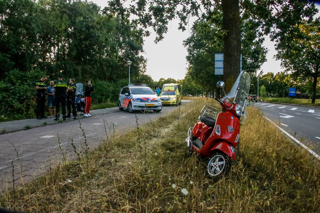
[[174, 105], [181, 104], [181, 85], [180, 84], [164, 84], [162, 86], [162, 92], [159, 96], [162, 105]]

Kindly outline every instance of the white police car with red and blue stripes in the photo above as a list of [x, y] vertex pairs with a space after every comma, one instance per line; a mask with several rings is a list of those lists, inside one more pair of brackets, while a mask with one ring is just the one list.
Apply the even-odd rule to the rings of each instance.
[[134, 110], [153, 110], [160, 112], [161, 100], [146, 84], [128, 84], [121, 89], [118, 101], [119, 110], [124, 108], [132, 113]]

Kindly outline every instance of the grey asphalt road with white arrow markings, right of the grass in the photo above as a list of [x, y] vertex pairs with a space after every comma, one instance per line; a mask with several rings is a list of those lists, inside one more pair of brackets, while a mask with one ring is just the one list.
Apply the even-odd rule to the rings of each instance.
[[320, 108], [255, 103], [264, 116], [320, 154]]

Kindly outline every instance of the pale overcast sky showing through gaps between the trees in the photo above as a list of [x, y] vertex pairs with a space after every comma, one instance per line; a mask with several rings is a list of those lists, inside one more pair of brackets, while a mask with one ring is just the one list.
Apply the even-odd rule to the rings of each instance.
[[[92, 0], [92, 2], [98, 4], [102, 9], [108, 5], [106, 0]], [[320, 5], [316, 7], [320, 10]], [[317, 14], [320, 16], [320, 12]], [[168, 26], [168, 33], [164, 35], [164, 39], [157, 44], [154, 43], [155, 33], [151, 32], [151, 36], [146, 37], [144, 40], [143, 56], [148, 60], [147, 72], [154, 80], [158, 81], [160, 78], [174, 78], [183, 79], [187, 69], [187, 49], [184, 48], [182, 42], [190, 35], [190, 31], [193, 21], [196, 18], [189, 20], [189, 28], [182, 32], [178, 30], [179, 20], [173, 20]], [[275, 43], [271, 42], [267, 37], [263, 45], [268, 48], [267, 62], [265, 62], [261, 70], [263, 73], [267, 72], [279, 72], [283, 71], [280, 66], [280, 61], [276, 61], [273, 57], [276, 55]], [[212, 68], [213, 72], [213, 68]]]

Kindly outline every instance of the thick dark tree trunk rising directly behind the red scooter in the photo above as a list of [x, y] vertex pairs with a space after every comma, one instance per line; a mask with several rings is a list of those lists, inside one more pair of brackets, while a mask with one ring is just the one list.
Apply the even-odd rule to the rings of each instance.
[[224, 36], [223, 81], [229, 92], [240, 73], [241, 32], [239, 0], [221, 0]]

